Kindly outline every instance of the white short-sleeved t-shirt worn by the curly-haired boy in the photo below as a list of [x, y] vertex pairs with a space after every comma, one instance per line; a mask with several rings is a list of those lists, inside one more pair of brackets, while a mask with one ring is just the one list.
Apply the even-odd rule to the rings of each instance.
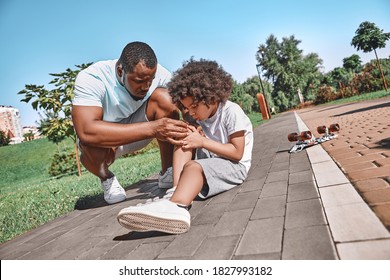
[[[248, 116], [241, 107], [231, 101], [219, 104], [217, 112], [211, 118], [198, 121], [206, 137], [214, 141], [226, 144], [229, 136], [237, 131], [245, 131], [244, 154], [240, 160], [248, 172], [251, 167], [253, 149], [253, 128]], [[218, 157], [213, 154], [214, 157]]]

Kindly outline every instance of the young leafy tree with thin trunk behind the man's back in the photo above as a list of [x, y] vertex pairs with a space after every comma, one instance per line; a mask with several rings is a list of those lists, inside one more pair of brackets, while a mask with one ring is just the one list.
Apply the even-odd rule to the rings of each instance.
[[26, 85], [25, 89], [18, 93], [24, 95], [22, 102], [29, 103], [31, 101], [34, 110], [44, 110], [46, 118], [41, 121], [38, 127], [42, 135], [47, 136], [50, 141], [56, 144], [66, 137], [73, 140], [79, 175], [81, 175], [81, 167], [76, 145], [77, 136], [71, 119], [71, 102], [77, 74], [91, 64], [76, 65], [77, 70], [68, 68], [65, 72], [50, 74], [55, 77], [49, 83], [54, 85], [53, 89], [48, 90], [44, 86]]

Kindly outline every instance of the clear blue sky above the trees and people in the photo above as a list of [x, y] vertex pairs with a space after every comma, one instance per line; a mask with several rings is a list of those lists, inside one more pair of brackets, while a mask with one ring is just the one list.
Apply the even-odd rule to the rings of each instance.
[[[194, 56], [244, 82], [257, 75], [255, 53], [270, 34], [294, 35], [327, 72], [352, 54], [374, 59], [350, 43], [363, 21], [390, 32], [389, 14], [388, 0], [0, 0], [0, 104], [34, 125], [37, 112], [17, 95], [25, 84], [47, 86], [49, 73], [118, 58], [131, 41], [150, 44], [171, 71]], [[390, 41], [378, 55], [390, 56]]]

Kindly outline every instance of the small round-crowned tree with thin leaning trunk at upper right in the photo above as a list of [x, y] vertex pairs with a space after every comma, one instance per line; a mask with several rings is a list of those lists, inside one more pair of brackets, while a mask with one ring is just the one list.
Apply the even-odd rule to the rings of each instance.
[[386, 47], [386, 41], [390, 39], [390, 33], [383, 32], [383, 29], [379, 29], [375, 23], [364, 21], [359, 25], [355, 34], [355, 37], [352, 38], [351, 45], [357, 48], [358, 51], [362, 50], [365, 53], [374, 51], [378, 68], [382, 74], [383, 85], [387, 92], [386, 79], [383, 74], [376, 49]]

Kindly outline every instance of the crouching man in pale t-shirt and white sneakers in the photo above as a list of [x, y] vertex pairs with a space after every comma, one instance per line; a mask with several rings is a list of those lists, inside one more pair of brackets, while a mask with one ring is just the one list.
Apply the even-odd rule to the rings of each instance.
[[170, 78], [143, 42], [127, 44], [118, 60], [97, 62], [77, 76], [72, 119], [81, 162], [100, 178], [109, 204], [126, 199], [109, 166], [153, 138], [161, 155], [159, 187], [172, 187], [173, 144], [187, 135], [187, 124], [177, 120], [178, 109], [165, 88]]

